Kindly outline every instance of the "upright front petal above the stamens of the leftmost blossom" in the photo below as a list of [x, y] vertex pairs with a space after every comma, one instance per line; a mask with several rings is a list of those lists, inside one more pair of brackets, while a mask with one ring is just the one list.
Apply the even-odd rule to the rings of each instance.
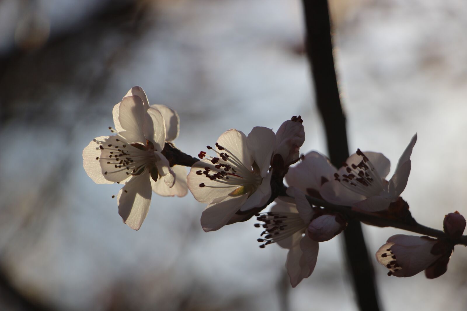
[[146, 110], [140, 97], [124, 97], [119, 106], [118, 118], [120, 126], [124, 130], [119, 132], [120, 135], [129, 142], [146, 145], [146, 138], [143, 133], [145, 115]]

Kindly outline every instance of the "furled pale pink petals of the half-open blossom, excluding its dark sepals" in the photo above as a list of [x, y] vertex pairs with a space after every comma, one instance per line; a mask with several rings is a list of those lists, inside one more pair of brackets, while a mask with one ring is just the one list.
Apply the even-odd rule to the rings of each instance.
[[394, 276], [414, 276], [441, 256], [431, 253], [436, 243], [437, 240], [427, 236], [393, 235], [378, 249], [376, 260]]

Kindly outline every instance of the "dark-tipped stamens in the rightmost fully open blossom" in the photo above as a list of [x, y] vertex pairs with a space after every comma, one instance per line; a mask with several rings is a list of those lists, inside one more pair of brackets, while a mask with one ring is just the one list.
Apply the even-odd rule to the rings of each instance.
[[361, 157], [360, 163], [350, 165], [344, 163], [343, 166], [346, 168], [347, 174], [334, 173], [334, 180], [339, 181], [353, 192], [367, 197], [380, 194], [384, 186], [375, 166], [360, 149], [357, 149], [357, 155]]

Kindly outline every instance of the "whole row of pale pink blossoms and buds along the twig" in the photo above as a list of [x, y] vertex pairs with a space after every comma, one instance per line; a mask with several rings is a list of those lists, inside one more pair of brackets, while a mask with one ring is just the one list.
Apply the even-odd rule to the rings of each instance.
[[[384, 226], [385, 220], [400, 221], [403, 228], [417, 226], [400, 197], [409, 179], [417, 134], [386, 180], [390, 162], [382, 153], [357, 149], [339, 169], [318, 152], [300, 156], [305, 138], [300, 116], [285, 121], [276, 132], [262, 126], [248, 135], [225, 131], [214, 145], [199, 152], [199, 160], [172, 143], [178, 136], [177, 113], [149, 105], [138, 86], [113, 107], [113, 122], [114, 127], [109, 127], [113, 135], [99, 136], [85, 147], [84, 168], [98, 184], [124, 184], [117, 204], [129, 227], [141, 228], [152, 192], [181, 197], [190, 189], [196, 200], [207, 205], [201, 214], [206, 232], [255, 215], [260, 221], [255, 227], [263, 229], [260, 248], [277, 243], [289, 250], [285, 266], [293, 287], [315, 269], [319, 242], [340, 234], [349, 216], [361, 215], [361, 221], [378, 226]], [[188, 176], [184, 166], [191, 166]], [[262, 212], [273, 201], [276, 204]], [[465, 226], [459, 212], [447, 214], [444, 233], [433, 235], [436, 239], [393, 235], [376, 252], [376, 259], [389, 269], [389, 276], [413, 276], [425, 270], [428, 278], [438, 277], [446, 272], [454, 245], [465, 238]]]

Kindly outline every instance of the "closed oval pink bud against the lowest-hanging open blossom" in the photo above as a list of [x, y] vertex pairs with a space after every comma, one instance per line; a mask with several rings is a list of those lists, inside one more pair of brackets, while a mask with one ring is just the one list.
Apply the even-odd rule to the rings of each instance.
[[346, 226], [347, 223], [340, 214], [322, 215], [310, 222], [308, 234], [312, 240], [324, 242], [340, 234]]

